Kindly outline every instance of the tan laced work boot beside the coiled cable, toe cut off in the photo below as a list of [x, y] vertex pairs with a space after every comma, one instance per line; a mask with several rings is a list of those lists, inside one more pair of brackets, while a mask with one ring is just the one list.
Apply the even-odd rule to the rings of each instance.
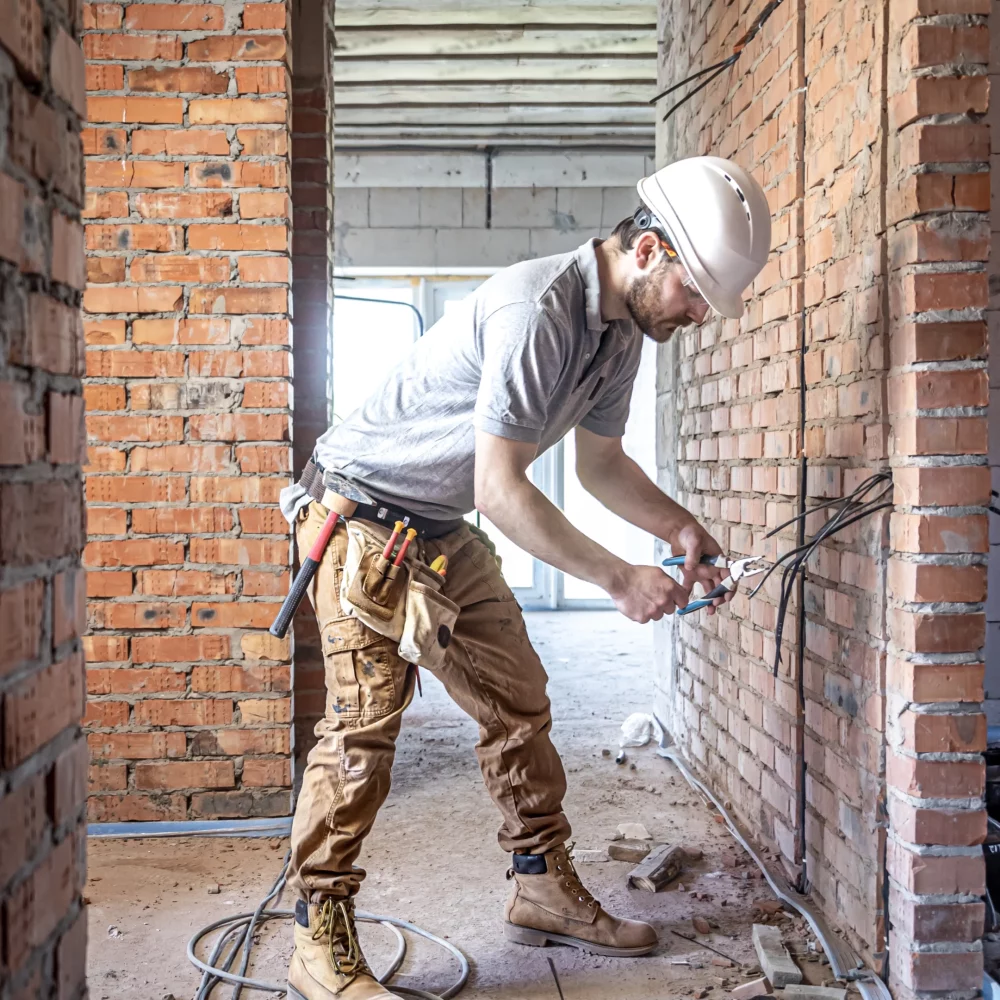
[[368, 968], [354, 923], [354, 900], [295, 904], [289, 1000], [399, 1000]]

